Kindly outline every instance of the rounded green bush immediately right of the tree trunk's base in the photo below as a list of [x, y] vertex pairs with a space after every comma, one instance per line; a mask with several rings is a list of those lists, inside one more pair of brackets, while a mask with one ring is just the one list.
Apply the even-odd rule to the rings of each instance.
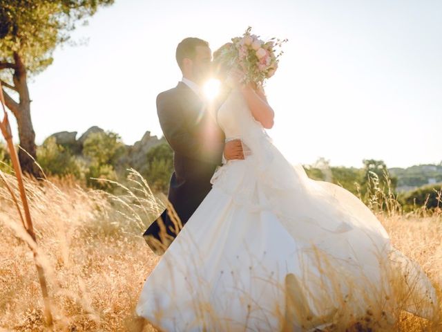
[[79, 160], [70, 154], [70, 151], [57, 145], [55, 137], [49, 137], [43, 145], [37, 147], [37, 163], [46, 174], [65, 176], [73, 174], [81, 178], [81, 165]]

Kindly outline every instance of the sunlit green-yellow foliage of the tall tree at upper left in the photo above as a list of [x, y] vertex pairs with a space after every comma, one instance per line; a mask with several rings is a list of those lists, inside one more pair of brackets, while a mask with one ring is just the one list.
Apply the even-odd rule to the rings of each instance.
[[30, 73], [52, 63], [56, 46], [68, 41], [79, 21], [95, 14], [113, 0], [1, 0], [0, 61], [12, 62], [13, 53], [23, 59]]

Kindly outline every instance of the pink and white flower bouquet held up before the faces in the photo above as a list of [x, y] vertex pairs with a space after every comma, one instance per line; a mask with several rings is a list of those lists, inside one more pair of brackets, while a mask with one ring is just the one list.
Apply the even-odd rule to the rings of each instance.
[[[284, 53], [280, 50], [282, 43], [288, 39], [271, 38], [265, 42], [260, 36], [251, 34], [251, 26], [242, 37], [234, 37], [232, 43], [222, 50], [222, 59], [232, 67], [237, 66], [244, 72], [242, 82], [254, 82], [262, 85], [278, 69], [279, 57]], [[279, 52], [277, 54], [277, 51]]]

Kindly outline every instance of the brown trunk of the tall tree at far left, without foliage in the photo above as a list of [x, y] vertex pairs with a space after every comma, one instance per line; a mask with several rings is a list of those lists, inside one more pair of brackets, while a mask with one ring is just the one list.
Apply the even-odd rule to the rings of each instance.
[[[37, 158], [37, 147], [35, 145], [35, 131], [32, 126], [30, 118], [30, 97], [28, 90], [28, 82], [26, 81], [26, 66], [21, 61], [18, 53], [14, 53], [15, 71], [14, 71], [14, 85], [19, 93], [19, 102], [15, 102], [12, 98], [7, 96], [5, 99], [6, 106], [12, 111], [17, 119], [19, 129], [19, 161], [23, 173], [35, 176], [35, 178], [43, 177], [41, 170], [35, 164], [32, 158]], [[31, 158], [32, 157], [32, 158]]]

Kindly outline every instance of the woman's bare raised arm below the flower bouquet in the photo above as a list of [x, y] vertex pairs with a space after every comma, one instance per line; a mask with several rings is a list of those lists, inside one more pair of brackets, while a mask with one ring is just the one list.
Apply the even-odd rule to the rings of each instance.
[[261, 122], [262, 127], [270, 129], [273, 127], [273, 118], [275, 113], [267, 102], [265, 94], [259, 89], [255, 90], [250, 84], [241, 86], [241, 92], [247, 105], [251, 110], [253, 118]]

